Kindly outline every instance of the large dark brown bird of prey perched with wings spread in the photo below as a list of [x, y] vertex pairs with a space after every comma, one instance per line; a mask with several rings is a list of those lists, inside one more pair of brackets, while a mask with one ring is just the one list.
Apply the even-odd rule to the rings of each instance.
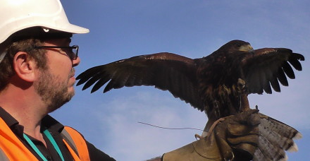
[[[288, 85], [287, 77], [295, 78], [292, 66], [302, 71], [299, 61], [304, 56], [291, 49], [254, 50], [248, 42], [233, 40], [199, 59], [161, 52], [95, 66], [77, 76], [77, 85], [85, 83], [85, 90], [94, 84], [92, 93], [108, 82], [104, 93], [124, 86], [154, 85], [206, 112], [205, 130], [209, 131], [217, 119], [249, 109], [247, 95], [280, 92], [280, 84]], [[265, 120], [260, 125], [261, 145], [254, 160], [285, 158], [284, 150], [294, 147], [292, 138], [298, 131], [263, 114], [261, 118]]]

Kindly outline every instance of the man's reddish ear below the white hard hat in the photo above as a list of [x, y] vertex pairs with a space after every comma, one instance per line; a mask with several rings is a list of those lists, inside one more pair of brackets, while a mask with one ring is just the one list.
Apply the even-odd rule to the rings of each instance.
[[30, 59], [27, 52], [17, 52], [13, 59], [16, 75], [27, 82], [35, 81], [35, 60]]

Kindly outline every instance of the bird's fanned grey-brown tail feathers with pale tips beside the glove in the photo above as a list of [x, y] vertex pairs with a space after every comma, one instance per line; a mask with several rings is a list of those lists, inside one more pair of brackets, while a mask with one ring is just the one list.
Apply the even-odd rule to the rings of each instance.
[[296, 129], [281, 121], [259, 113], [259, 147], [254, 153], [254, 161], [287, 160], [285, 151], [296, 152], [297, 145], [293, 139], [302, 138]]

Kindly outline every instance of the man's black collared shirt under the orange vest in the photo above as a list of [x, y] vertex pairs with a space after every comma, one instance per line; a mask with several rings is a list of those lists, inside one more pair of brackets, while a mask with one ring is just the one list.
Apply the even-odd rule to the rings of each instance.
[[[23, 131], [24, 127], [18, 123], [16, 119], [14, 119], [11, 114], [8, 114], [3, 108], [0, 107], [0, 117], [6, 122], [8, 127], [13, 131], [13, 133], [16, 134], [16, 136], [20, 139], [20, 141], [32, 152], [35, 157], [37, 157], [38, 160], [42, 160], [39, 155], [31, 148], [29, 143], [25, 140], [23, 137]], [[68, 160], [73, 160], [73, 157], [71, 153], [69, 152], [67, 146], [65, 143], [63, 143], [63, 138], [61, 136], [61, 131], [63, 130], [63, 125], [60, 124], [56, 119], [53, 117], [47, 115], [42, 119], [41, 123], [42, 127], [46, 127], [48, 131], [51, 133], [51, 136], [53, 136], [54, 140], [56, 141], [59, 149], [61, 150], [61, 153], [63, 155], [63, 159], [65, 161]], [[1, 128], [1, 127], [0, 127]], [[40, 152], [44, 155], [46, 160], [51, 160], [51, 161], [58, 161], [61, 160], [61, 157], [58, 155], [56, 152], [54, 145], [49, 141], [49, 139], [43, 135], [44, 141], [46, 142], [46, 146], [41, 142], [38, 141], [35, 138], [32, 138], [31, 136], [28, 136], [30, 140], [35, 143], [37, 148], [40, 150]], [[89, 151], [89, 157], [90, 160], [102, 160], [102, 161], [115, 161], [112, 157], [109, 157], [109, 155], [106, 155], [106, 153], [103, 153], [101, 150], [97, 149], [94, 145], [86, 141], [87, 143], [87, 148]]]

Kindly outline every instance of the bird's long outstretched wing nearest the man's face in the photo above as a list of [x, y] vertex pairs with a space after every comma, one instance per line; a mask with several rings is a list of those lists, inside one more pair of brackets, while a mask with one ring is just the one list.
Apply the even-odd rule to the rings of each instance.
[[193, 59], [178, 54], [161, 52], [134, 56], [95, 66], [77, 76], [77, 85], [85, 83], [85, 90], [94, 84], [92, 93], [105, 83], [104, 93], [111, 89], [135, 85], [154, 85], [161, 90], [169, 90], [173, 96], [189, 102], [193, 107], [203, 110], [197, 87], [197, 66]]

